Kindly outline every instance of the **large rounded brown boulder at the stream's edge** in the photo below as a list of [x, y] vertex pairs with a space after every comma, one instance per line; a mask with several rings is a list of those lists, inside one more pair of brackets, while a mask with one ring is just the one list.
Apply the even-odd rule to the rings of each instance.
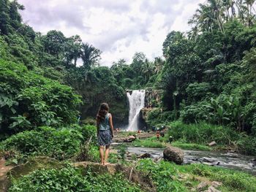
[[184, 151], [178, 147], [166, 147], [163, 154], [167, 161], [173, 161], [176, 164], [182, 164], [184, 161]]

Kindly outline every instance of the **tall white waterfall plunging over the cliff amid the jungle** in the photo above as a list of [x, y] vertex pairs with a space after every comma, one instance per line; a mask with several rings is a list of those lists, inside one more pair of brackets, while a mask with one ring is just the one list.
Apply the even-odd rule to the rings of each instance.
[[129, 101], [129, 125], [127, 131], [138, 131], [140, 110], [144, 107], [145, 90], [134, 90], [132, 94], [127, 92]]

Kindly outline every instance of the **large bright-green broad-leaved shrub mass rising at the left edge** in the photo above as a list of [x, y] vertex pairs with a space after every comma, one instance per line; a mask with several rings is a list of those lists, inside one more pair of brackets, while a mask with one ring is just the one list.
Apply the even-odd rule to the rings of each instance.
[[30, 72], [23, 64], [0, 60], [0, 69], [3, 134], [76, 121], [81, 101], [72, 88]]

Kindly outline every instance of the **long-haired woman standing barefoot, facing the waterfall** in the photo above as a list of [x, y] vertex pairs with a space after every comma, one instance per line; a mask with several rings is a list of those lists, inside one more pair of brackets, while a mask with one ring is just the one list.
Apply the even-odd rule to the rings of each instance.
[[[112, 115], [108, 112], [108, 104], [102, 103], [97, 113], [97, 139], [99, 145], [99, 156], [101, 164], [108, 164], [108, 154], [110, 151], [110, 144], [113, 139], [113, 120]], [[105, 155], [104, 155], [105, 147]]]

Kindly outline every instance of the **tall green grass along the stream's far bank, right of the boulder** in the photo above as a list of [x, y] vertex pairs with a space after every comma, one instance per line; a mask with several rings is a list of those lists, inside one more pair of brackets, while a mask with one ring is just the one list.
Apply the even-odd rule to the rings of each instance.
[[[233, 147], [239, 153], [255, 155], [256, 142], [254, 137], [239, 134], [227, 126], [214, 126], [208, 123], [184, 124], [179, 121], [170, 123], [168, 134], [174, 140], [183, 143], [206, 145], [215, 141], [218, 145]], [[248, 145], [250, 143], [250, 145]]]

